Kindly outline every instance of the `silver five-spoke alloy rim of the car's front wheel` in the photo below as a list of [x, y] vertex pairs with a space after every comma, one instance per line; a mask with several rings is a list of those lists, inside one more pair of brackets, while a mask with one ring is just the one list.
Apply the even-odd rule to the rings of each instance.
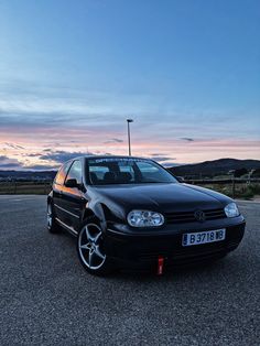
[[102, 231], [96, 224], [86, 225], [78, 237], [78, 250], [83, 262], [91, 270], [102, 267], [106, 255], [101, 250]]

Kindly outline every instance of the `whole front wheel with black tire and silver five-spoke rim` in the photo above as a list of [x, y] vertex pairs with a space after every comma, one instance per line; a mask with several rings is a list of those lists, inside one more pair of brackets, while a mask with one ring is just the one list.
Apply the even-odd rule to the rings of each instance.
[[104, 234], [96, 217], [83, 221], [77, 237], [77, 253], [83, 267], [91, 274], [107, 275], [113, 270], [104, 249]]

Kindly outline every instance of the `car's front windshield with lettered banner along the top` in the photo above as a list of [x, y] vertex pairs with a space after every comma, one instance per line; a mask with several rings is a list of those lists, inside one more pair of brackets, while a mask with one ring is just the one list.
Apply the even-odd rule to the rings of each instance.
[[166, 170], [142, 159], [88, 160], [89, 181], [94, 185], [177, 183]]

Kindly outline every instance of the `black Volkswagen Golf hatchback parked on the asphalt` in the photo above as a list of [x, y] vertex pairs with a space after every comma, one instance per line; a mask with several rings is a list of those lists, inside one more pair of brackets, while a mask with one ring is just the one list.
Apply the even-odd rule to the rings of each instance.
[[47, 197], [48, 230], [76, 236], [82, 264], [96, 274], [218, 259], [238, 247], [245, 225], [229, 197], [141, 158], [68, 161]]

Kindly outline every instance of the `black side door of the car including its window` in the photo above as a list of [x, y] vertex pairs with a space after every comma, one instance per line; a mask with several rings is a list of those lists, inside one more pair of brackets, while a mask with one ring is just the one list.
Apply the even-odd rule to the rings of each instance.
[[[78, 187], [65, 186], [66, 181], [71, 179], [77, 181]], [[61, 207], [64, 212], [62, 221], [74, 230], [77, 230], [82, 223], [82, 215], [86, 205], [83, 192], [83, 164], [80, 160], [75, 160], [68, 170], [61, 201]]]

